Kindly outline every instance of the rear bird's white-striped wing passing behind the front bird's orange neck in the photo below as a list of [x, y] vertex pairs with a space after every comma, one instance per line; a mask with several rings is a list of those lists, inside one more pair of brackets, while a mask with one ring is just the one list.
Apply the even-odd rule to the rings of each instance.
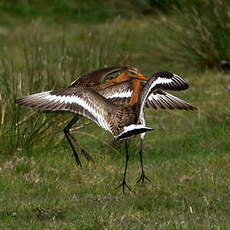
[[[142, 82], [142, 87], [145, 86], [145, 82]], [[127, 104], [130, 101], [132, 95], [132, 81], [122, 82], [108, 88], [98, 91], [102, 96], [109, 99], [114, 104]], [[145, 106], [154, 110], [158, 109], [184, 109], [193, 110], [196, 109], [188, 102], [175, 97], [162, 90], [152, 90], [146, 99]]]

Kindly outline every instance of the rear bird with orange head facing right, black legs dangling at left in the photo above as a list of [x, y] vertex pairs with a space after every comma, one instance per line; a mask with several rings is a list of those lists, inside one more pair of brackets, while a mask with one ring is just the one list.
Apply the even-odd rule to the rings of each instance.
[[[111, 78], [113, 74], [121, 72], [117, 77], [113, 78], [106, 83], [103, 81]], [[129, 102], [129, 104], [133, 104], [133, 98], [131, 95], [133, 93], [133, 79], [139, 79], [142, 81], [147, 81], [148, 78], [145, 77], [143, 74], [139, 72], [138, 69], [126, 66], [118, 66], [118, 67], [107, 67], [98, 69], [89, 73], [84, 74], [79, 79], [75, 80], [71, 87], [76, 86], [84, 86], [90, 87], [96, 90], [99, 94], [104, 96], [106, 99], [109, 99], [115, 104], [125, 105]], [[144, 87], [144, 82], [141, 82], [140, 88]], [[136, 87], [137, 88], [137, 87]], [[183, 90], [185, 88], [174, 88], [175, 90]], [[137, 90], [134, 94], [137, 93]], [[153, 90], [148, 97], [147, 108], [151, 109], [185, 109], [185, 110], [192, 110], [194, 109], [189, 103], [185, 102], [182, 99], [179, 99], [169, 93], [166, 93], [161, 90]], [[75, 115], [75, 117], [68, 123], [68, 125], [64, 129], [64, 133], [67, 137], [67, 140], [70, 143], [70, 146], [73, 150], [73, 154], [77, 160], [77, 163], [81, 165], [79, 157], [69, 139], [71, 137], [72, 140], [80, 147], [81, 153], [88, 159], [92, 160], [89, 154], [79, 145], [76, 139], [70, 134], [69, 130], [71, 127], [78, 121], [79, 116]], [[68, 137], [69, 135], [69, 137]], [[141, 143], [142, 146], [142, 143]], [[142, 150], [140, 150], [142, 152]], [[141, 161], [142, 162], [142, 161]], [[142, 181], [143, 182], [143, 181]]]

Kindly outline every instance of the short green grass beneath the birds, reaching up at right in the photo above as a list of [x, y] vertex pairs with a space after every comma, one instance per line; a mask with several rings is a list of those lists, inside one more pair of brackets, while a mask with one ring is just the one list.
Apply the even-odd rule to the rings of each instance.
[[82, 169], [64, 141], [49, 150], [1, 155], [1, 228], [228, 229], [227, 84], [225, 74], [193, 76], [186, 96], [198, 112], [148, 113], [156, 128], [144, 148], [152, 182], [135, 184], [138, 139], [132, 140], [132, 191], [124, 195], [115, 189], [123, 173], [123, 146], [107, 146], [111, 137], [93, 124], [76, 133], [95, 159], [95, 164], [84, 161]]

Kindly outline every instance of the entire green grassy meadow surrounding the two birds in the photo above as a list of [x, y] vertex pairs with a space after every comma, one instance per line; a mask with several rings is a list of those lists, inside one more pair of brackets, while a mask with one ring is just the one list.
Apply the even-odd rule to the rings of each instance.
[[[0, 4], [0, 229], [229, 229], [228, 1], [54, 2]], [[174, 95], [198, 107], [147, 111], [152, 182], [136, 184], [133, 138], [125, 194], [124, 143], [81, 119], [73, 133], [95, 163], [79, 168], [62, 132], [71, 114], [15, 105], [123, 64], [185, 77], [191, 87]]]

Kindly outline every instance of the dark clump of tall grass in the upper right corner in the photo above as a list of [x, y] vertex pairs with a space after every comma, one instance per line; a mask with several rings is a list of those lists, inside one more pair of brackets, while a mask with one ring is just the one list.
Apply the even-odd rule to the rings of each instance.
[[198, 0], [173, 9], [159, 33], [160, 59], [198, 69], [230, 69], [230, 2]]

